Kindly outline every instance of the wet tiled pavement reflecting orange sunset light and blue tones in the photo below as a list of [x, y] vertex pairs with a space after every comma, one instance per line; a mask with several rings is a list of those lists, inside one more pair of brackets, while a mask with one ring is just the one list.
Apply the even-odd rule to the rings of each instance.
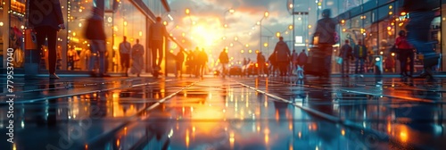
[[[5, 83], [5, 80], [4, 82]], [[14, 79], [0, 149], [442, 149], [444, 80]]]

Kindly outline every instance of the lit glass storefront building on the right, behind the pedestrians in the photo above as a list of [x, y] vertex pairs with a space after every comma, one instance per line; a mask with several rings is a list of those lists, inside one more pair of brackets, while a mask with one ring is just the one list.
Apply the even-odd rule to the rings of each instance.
[[[351, 41], [351, 46], [355, 46], [358, 41], [362, 41], [368, 47], [369, 61], [367, 66], [374, 66], [375, 59], [373, 56], [381, 56], [383, 61], [384, 73], [399, 73], [400, 61], [397, 59], [398, 54], [390, 52], [398, 32], [405, 30], [405, 26], [409, 21], [409, 14], [401, 16], [401, 6], [403, 1], [392, 0], [370, 0], [367, 3], [351, 8], [347, 12], [343, 12], [337, 16], [341, 21], [340, 39], [343, 45], [344, 39]], [[435, 42], [435, 50], [437, 53], [443, 54], [445, 49], [441, 46], [441, 29], [442, 12], [437, 9], [436, 17], [432, 22], [430, 34], [431, 40]], [[420, 54], [416, 54], [415, 72], [422, 71], [422, 58]], [[442, 60], [444, 57], [442, 57]], [[442, 61], [443, 62], [443, 61]], [[438, 71], [444, 71], [445, 65], [441, 65]], [[351, 68], [354, 71], [354, 66]], [[368, 67], [367, 72], [375, 72], [375, 67]]]

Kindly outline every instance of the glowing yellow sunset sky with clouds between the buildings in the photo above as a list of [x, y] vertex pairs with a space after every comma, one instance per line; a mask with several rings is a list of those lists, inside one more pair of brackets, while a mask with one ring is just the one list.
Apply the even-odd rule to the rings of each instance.
[[[310, 9], [310, 14], [308, 17], [295, 16], [296, 36], [302, 35], [303, 29], [307, 29], [309, 24], [306, 21], [314, 25], [317, 15], [316, 11], [313, 11], [317, 8], [314, 1], [299, 4], [297, 2], [296, 0], [295, 12], [305, 12]], [[178, 41], [181, 41], [183, 33], [185, 37], [193, 39], [192, 47], [186, 47], [188, 49], [199, 46], [218, 54], [221, 49], [228, 46], [230, 54], [233, 53], [233, 55], [236, 55], [235, 52], [241, 54], [242, 49], [244, 49], [244, 56], [248, 55], [246, 53], [249, 49], [255, 52], [260, 46], [260, 26], [257, 22], [267, 11], [268, 17], [261, 21], [263, 36], [261, 46], [267, 42], [268, 47], [263, 46], [262, 52], [270, 54], [273, 51], [278, 41], [275, 37], [276, 32], [282, 32], [285, 41], [292, 40], [291, 30], [289, 34], [285, 34], [288, 26], [293, 25], [293, 16], [288, 12], [286, 0], [170, 0], [169, 4], [170, 15], [174, 20], [169, 21], [167, 17], [163, 20], [169, 21], [168, 30], [177, 37]], [[231, 8], [235, 10], [234, 13], [228, 12]], [[190, 10], [190, 15], [186, 15], [186, 9]], [[299, 17], [301, 20], [298, 20]], [[224, 29], [225, 20], [227, 29]], [[223, 40], [223, 37], [227, 37], [226, 40]], [[230, 45], [231, 43], [233, 46]], [[246, 45], [249, 46], [246, 47]], [[255, 58], [255, 54], [252, 55], [249, 57]]]

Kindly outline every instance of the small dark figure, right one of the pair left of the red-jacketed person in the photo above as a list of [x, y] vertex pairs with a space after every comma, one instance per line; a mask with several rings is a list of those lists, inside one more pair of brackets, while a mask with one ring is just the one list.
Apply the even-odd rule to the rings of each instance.
[[359, 74], [360, 77], [364, 77], [365, 63], [367, 59], [367, 47], [362, 45], [362, 42], [359, 40], [358, 45], [355, 46], [354, 55], [355, 55], [355, 74]]

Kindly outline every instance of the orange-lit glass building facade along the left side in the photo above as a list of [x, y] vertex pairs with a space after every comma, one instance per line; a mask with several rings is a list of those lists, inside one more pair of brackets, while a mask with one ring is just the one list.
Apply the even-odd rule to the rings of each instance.
[[[90, 61], [89, 41], [84, 36], [86, 21], [91, 16], [95, 0], [60, 1], [66, 29], [57, 34], [57, 65], [59, 71], [87, 71]], [[6, 67], [6, 50], [14, 49], [14, 68], [24, 65], [24, 30], [26, 28], [26, 0], [0, 0], [0, 58]], [[104, 29], [106, 34], [106, 70], [120, 71], [119, 45], [123, 37], [133, 46], [136, 39], [145, 47], [145, 64], [150, 63], [148, 52], [148, 28], [155, 17], [169, 12], [165, 0], [103, 0]], [[115, 7], [113, 7], [113, 3]], [[8, 34], [9, 33], [9, 34]], [[167, 42], [169, 43], [169, 42]], [[178, 51], [178, 50], [177, 50]], [[169, 51], [168, 51], [169, 52]], [[40, 71], [47, 70], [47, 52], [41, 52]], [[149, 66], [149, 65], [147, 65]], [[145, 66], [145, 71], [150, 67]]]

